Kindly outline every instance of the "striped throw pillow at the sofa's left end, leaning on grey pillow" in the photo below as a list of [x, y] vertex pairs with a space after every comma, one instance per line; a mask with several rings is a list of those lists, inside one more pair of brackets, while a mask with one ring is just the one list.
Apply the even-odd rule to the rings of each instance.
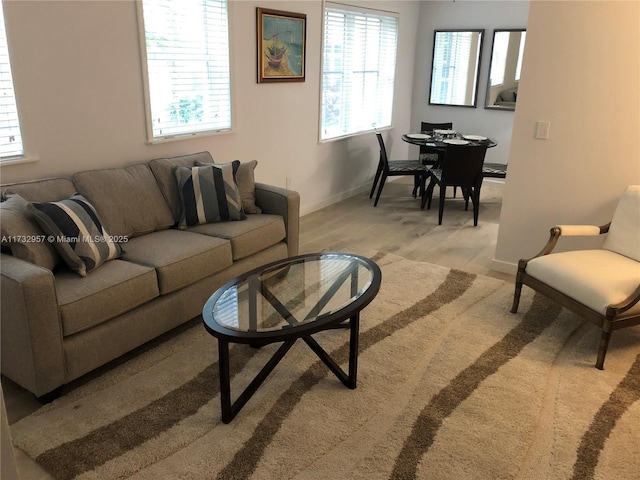
[[82, 277], [124, 253], [82, 195], [59, 202], [32, 202], [27, 209], [69, 268]]

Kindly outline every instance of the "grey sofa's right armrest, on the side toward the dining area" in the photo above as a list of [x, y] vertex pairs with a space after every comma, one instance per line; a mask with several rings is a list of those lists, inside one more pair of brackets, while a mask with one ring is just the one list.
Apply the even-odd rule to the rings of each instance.
[[300, 243], [300, 194], [293, 190], [256, 183], [256, 205], [263, 213], [282, 215], [290, 257], [298, 255]]

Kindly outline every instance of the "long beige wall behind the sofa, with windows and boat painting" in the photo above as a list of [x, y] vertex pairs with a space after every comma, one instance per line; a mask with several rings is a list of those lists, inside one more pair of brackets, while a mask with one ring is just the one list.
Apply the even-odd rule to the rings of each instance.
[[[394, 135], [406, 155], [419, 2], [350, 2], [398, 12]], [[38, 161], [0, 167], [2, 183], [208, 150], [217, 162], [259, 161], [258, 181], [301, 193], [308, 213], [368, 188], [375, 136], [318, 143], [322, 2], [230, 4], [235, 131], [147, 145], [136, 6], [126, 1], [8, 1], [5, 18], [23, 135]], [[256, 82], [256, 7], [307, 15], [304, 83]], [[399, 151], [395, 151], [395, 150]], [[404, 150], [404, 152], [402, 151]]]

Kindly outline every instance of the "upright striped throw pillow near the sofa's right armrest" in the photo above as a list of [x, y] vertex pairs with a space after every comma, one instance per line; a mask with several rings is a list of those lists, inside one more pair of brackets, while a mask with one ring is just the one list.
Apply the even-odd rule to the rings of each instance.
[[177, 167], [178, 190], [182, 200], [179, 227], [224, 220], [244, 220], [242, 199], [236, 183], [240, 161], [219, 165]]

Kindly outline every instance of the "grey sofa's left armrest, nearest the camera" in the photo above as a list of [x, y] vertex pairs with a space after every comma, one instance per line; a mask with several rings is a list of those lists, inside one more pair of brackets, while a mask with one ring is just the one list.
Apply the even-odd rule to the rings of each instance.
[[0, 273], [2, 374], [43, 396], [65, 383], [53, 273], [5, 254]]

